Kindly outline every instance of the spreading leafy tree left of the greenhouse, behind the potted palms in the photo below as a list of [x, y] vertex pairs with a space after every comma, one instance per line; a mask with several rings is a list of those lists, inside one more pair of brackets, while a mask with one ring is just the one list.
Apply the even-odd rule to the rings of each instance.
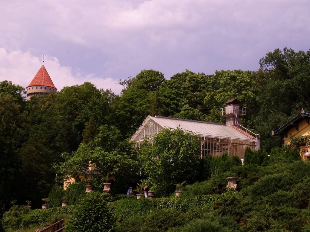
[[[93, 184], [102, 188], [101, 178], [115, 176], [113, 191], [122, 192], [128, 183], [137, 179], [139, 167], [137, 156], [132, 144], [122, 140], [120, 131], [114, 126], [103, 125], [98, 128], [98, 134], [90, 143], [80, 144], [78, 150], [63, 153], [64, 162], [54, 165], [64, 177], [84, 179], [91, 177]], [[90, 163], [91, 162], [91, 163]], [[94, 168], [90, 170], [90, 165]]]

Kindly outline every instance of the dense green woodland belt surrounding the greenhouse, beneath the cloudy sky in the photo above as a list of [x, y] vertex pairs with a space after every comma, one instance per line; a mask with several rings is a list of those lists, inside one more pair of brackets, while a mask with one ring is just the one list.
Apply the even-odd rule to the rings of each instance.
[[[55, 186], [56, 174], [80, 175], [89, 158], [101, 170], [92, 180], [95, 190], [102, 189], [101, 178], [109, 174], [115, 176], [114, 194], [126, 193], [129, 186], [141, 179], [148, 179], [159, 195], [167, 195], [175, 183], [184, 180], [191, 184], [217, 179], [229, 168], [238, 168], [240, 161], [224, 160], [224, 156], [217, 160], [207, 157], [197, 164], [192, 159], [196, 148], [184, 144], [181, 135], [179, 148], [164, 149], [171, 143], [167, 138], [171, 131], [163, 132], [167, 136], [158, 147], [145, 145], [143, 154], [138, 154], [128, 139], [148, 114], [224, 122], [218, 110], [233, 98], [247, 107], [241, 124], [261, 138], [261, 151], [248, 153], [246, 165], [267, 167], [299, 159], [294, 149], [277, 150], [283, 141], [272, 137], [271, 130], [299, 114], [301, 107], [306, 112], [310, 110], [310, 92], [304, 84], [310, 78], [310, 52], [275, 49], [261, 58], [259, 65], [257, 71], [222, 70], [212, 75], [185, 70], [170, 79], [165, 79], [160, 71], [143, 70], [135, 77], [119, 81], [124, 86], [120, 95], [85, 82], [33, 96], [29, 101], [23, 87], [10, 81], [0, 82], [0, 204], [32, 200], [32, 207], [39, 208], [41, 199]], [[308, 143], [299, 138], [293, 145], [298, 148], [305, 142]], [[152, 149], [161, 157], [160, 162], [145, 159], [152, 157]], [[193, 156], [189, 156], [190, 152]], [[171, 170], [169, 162], [165, 163], [167, 159], [174, 159], [174, 164], [184, 171]], [[161, 170], [172, 178], [162, 175]], [[218, 187], [210, 192], [223, 192], [223, 186]], [[78, 202], [80, 193], [74, 194], [68, 195], [71, 203]], [[59, 205], [60, 195], [52, 192], [51, 198], [56, 199], [50, 202], [52, 206]]]

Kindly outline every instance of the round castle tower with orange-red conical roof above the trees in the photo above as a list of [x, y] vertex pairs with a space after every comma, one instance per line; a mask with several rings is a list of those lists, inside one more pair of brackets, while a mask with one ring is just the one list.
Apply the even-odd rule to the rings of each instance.
[[53, 84], [50, 75], [48, 75], [44, 65], [42, 65], [30, 84], [27, 86], [27, 97], [30, 99], [33, 95], [50, 93], [54, 91], [57, 91], [57, 89]]

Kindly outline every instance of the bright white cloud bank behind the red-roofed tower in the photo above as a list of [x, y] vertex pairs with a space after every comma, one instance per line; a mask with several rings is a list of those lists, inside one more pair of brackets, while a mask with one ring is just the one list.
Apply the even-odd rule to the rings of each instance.
[[[0, 48], [0, 63], [0, 81], [9, 80], [26, 88], [40, 69], [42, 60], [28, 51], [7, 52], [5, 48]], [[112, 78], [98, 77], [79, 70], [73, 71], [71, 67], [62, 66], [57, 58], [49, 55], [44, 56], [44, 66], [58, 91], [64, 86], [83, 84], [86, 81], [95, 84], [97, 88], [112, 89], [116, 94], [122, 90], [122, 86]]]

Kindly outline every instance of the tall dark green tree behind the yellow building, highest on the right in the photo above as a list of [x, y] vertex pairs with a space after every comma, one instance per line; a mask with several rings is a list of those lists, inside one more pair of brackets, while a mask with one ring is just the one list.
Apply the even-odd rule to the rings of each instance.
[[305, 84], [310, 81], [310, 51], [278, 48], [261, 58], [259, 65], [255, 81], [260, 90], [260, 108], [255, 127], [265, 138], [261, 148], [269, 152], [283, 144], [270, 131], [299, 114], [302, 107], [305, 111], [310, 109], [310, 91]]

